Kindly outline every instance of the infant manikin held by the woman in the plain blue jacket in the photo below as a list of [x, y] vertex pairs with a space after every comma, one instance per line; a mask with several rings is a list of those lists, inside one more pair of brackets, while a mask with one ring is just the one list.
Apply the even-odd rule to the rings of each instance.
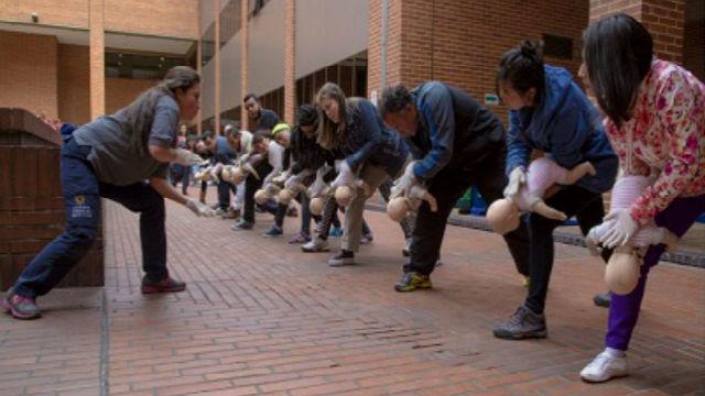
[[549, 187], [560, 184], [568, 186], [589, 174], [595, 175], [595, 167], [584, 162], [568, 170], [553, 160], [543, 156], [534, 160], [527, 170], [527, 184], [512, 198], [498, 199], [487, 209], [487, 221], [492, 230], [501, 235], [519, 228], [521, 212], [536, 212], [547, 219], [564, 221], [565, 213], [555, 210], [543, 201]]

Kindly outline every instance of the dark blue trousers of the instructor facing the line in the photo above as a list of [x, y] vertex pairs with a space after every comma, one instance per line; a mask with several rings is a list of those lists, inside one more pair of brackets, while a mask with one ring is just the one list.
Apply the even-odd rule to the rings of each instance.
[[14, 292], [35, 298], [47, 294], [90, 250], [100, 221], [100, 197], [140, 213], [142, 268], [150, 279], [166, 277], [164, 198], [145, 183], [115, 186], [98, 182], [87, 157], [90, 146], [69, 138], [62, 147], [61, 179], [66, 229], [24, 268]]

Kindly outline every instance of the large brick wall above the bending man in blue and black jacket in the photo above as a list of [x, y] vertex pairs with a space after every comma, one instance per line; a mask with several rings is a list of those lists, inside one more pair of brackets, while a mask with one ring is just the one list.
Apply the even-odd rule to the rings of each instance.
[[[584, 0], [390, 0], [387, 85], [403, 82], [411, 87], [437, 79], [481, 101], [485, 94], [495, 92], [501, 54], [522, 40], [540, 40], [543, 33], [573, 38], [573, 59], [546, 62], [567, 67], [575, 75], [588, 6]], [[379, 89], [380, 0], [370, 0], [369, 14], [368, 87]], [[506, 107], [491, 109], [507, 120]]]

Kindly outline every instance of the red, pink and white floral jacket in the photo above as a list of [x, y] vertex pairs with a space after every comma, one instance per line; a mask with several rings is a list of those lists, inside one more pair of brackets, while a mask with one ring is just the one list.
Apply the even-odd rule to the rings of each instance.
[[684, 68], [654, 59], [632, 114], [620, 128], [609, 118], [604, 122], [625, 174], [655, 178], [630, 208], [643, 226], [674, 198], [705, 194], [705, 86]]

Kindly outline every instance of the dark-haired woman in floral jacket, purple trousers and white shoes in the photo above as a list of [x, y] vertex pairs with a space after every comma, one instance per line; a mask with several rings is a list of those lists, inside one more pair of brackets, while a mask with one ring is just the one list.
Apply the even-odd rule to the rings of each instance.
[[[629, 209], [606, 218], [615, 221], [601, 242], [623, 245], [652, 218], [681, 237], [705, 210], [705, 86], [682, 67], [654, 58], [651, 35], [626, 14], [594, 23], [584, 38], [581, 77], [606, 114], [605, 131], [622, 172], [655, 180]], [[612, 296], [606, 349], [581, 372], [583, 380], [627, 375], [625, 352], [647, 276], [663, 251], [662, 244], [651, 246], [634, 290]]]

